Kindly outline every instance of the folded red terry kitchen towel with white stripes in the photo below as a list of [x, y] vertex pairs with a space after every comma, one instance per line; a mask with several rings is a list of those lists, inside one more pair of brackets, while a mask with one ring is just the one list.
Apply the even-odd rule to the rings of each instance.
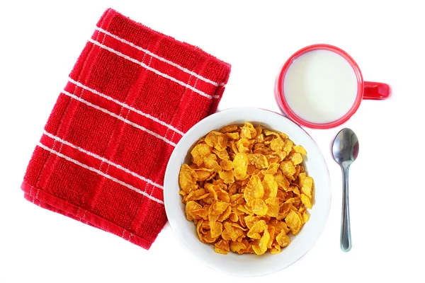
[[35, 147], [26, 200], [148, 249], [166, 224], [171, 152], [217, 110], [229, 72], [198, 47], [108, 9]]

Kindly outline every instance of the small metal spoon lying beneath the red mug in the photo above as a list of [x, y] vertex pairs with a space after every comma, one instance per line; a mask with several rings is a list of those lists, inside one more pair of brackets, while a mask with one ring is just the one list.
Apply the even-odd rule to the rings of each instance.
[[358, 139], [351, 129], [345, 128], [336, 134], [332, 153], [336, 163], [342, 169], [342, 220], [341, 220], [341, 249], [351, 250], [350, 209], [348, 206], [348, 168], [358, 156]]

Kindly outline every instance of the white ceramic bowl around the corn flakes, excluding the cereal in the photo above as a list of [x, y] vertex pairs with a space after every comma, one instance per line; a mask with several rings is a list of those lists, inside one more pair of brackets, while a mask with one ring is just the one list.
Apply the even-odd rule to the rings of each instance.
[[[268, 129], [288, 134], [295, 144], [307, 150], [305, 168], [314, 179], [314, 205], [310, 209], [310, 220], [302, 227], [297, 236], [291, 238], [288, 247], [277, 255], [244, 254], [229, 252], [227, 255], [215, 253], [212, 245], [199, 241], [196, 226], [186, 219], [185, 207], [179, 195], [179, 171], [183, 163], [190, 162], [193, 145], [213, 129], [225, 125], [260, 122]], [[188, 130], [174, 149], [166, 168], [164, 179], [164, 204], [171, 229], [181, 244], [200, 262], [208, 267], [229, 275], [258, 276], [266, 275], [288, 267], [305, 255], [319, 238], [329, 214], [331, 190], [327, 166], [317, 144], [313, 139], [288, 118], [259, 108], [231, 108], [217, 112], [198, 122]]]

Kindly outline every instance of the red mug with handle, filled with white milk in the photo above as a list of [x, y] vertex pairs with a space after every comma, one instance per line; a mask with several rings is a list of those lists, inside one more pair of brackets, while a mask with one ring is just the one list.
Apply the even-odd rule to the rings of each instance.
[[283, 65], [275, 84], [278, 106], [299, 125], [328, 129], [346, 122], [361, 100], [390, 96], [386, 83], [363, 81], [358, 65], [332, 45], [310, 45]]

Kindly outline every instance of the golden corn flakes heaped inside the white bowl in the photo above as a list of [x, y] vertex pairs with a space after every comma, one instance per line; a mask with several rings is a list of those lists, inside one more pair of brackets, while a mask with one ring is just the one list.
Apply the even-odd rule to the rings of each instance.
[[188, 221], [217, 253], [280, 253], [309, 221], [314, 180], [307, 151], [287, 134], [249, 122], [200, 139], [179, 174]]

